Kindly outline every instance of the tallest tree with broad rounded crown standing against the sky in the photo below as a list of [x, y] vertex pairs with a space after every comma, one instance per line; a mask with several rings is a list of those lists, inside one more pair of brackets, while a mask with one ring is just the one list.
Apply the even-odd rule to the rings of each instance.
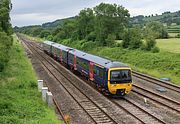
[[109, 34], [115, 34], [116, 37], [119, 37], [128, 24], [130, 14], [122, 6], [101, 3], [94, 8], [94, 11], [96, 38], [101, 45], [104, 45]]

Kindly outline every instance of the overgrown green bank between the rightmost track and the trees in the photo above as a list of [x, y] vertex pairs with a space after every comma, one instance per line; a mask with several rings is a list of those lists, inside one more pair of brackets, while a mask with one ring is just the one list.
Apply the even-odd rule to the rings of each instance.
[[60, 43], [88, 53], [129, 64], [134, 70], [161, 78], [169, 77], [180, 84], [180, 54], [161, 51], [128, 50], [121, 47], [96, 47], [94, 42], [63, 40]]

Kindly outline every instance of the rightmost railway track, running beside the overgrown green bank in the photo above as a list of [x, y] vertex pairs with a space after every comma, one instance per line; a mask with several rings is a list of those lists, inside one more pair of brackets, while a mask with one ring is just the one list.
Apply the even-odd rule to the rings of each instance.
[[136, 72], [136, 71], [133, 71], [133, 76], [137, 77], [139, 79], [145, 80], [148, 83], [156, 84], [156, 85], [165, 87], [167, 89], [170, 89], [172, 91], [175, 91], [177, 93], [180, 93], [180, 86], [177, 86], [175, 84], [169, 83], [167, 81], [162, 81], [160, 79], [157, 79], [157, 78], [154, 78], [154, 77], [151, 77], [151, 76], [148, 76], [148, 75]]

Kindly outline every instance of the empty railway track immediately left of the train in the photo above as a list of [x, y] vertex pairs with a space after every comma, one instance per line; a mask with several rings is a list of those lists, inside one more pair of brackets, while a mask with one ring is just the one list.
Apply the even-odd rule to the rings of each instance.
[[[26, 45], [27, 46], [30, 46], [31, 50], [33, 51], [33, 47], [31, 44], [27, 43], [26, 42]], [[34, 51], [36, 51], [34, 49]], [[36, 53], [38, 54], [38, 52], [36, 51]], [[40, 54], [39, 54], [39, 57], [42, 57]], [[41, 60], [43, 61], [43, 60]], [[47, 62], [42, 62], [42, 64], [49, 70], [49, 72], [59, 81], [59, 83], [66, 89], [66, 91], [70, 94], [70, 96], [78, 103], [78, 105], [89, 115], [89, 117], [91, 117], [91, 119], [94, 121], [94, 123], [96, 124], [99, 124], [99, 123], [103, 123], [103, 124], [117, 124], [117, 122], [115, 122], [107, 113], [104, 112], [104, 110], [102, 108], [100, 108], [94, 101], [92, 101], [91, 99], [89, 99], [87, 97], [86, 94], [82, 93], [80, 90], [79, 92], [84, 95], [84, 97], [82, 97], [81, 99], [77, 99], [72, 92], [71, 92], [71, 89], [68, 88], [67, 86], [68, 85], [72, 85], [72, 82], [64, 77], [66, 80], [68, 80], [69, 82], [71, 83], [68, 83], [68, 81], [66, 81], [66, 85], [57, 78], [58, 75], [56, 75], [55, 72], [51, 71], [47, 65], [51, 65], [53, 66], [51, 63]], [[59, 72], [58, 70], [56, 70], [56, 72], [58, 73], [61, 73]], [[61, 73], [62, 74], [62, 73]], [[68, 85], [67, 85], [68, 83]], [[77, 89], [77, 87], [75, 85], [73, 85], [73, 88]], [[59, 108], [59, 106], [57, 106]]]

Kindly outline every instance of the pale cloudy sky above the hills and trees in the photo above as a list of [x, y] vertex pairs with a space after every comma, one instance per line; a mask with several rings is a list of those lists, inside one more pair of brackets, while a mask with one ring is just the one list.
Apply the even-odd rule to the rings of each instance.
[[180, 10], [179, 0], [11, 0], [13, 26], [40, 25], [78, 15], [84, 8], [116, 3], [129, 10], [131, 16], [161, 14]]

